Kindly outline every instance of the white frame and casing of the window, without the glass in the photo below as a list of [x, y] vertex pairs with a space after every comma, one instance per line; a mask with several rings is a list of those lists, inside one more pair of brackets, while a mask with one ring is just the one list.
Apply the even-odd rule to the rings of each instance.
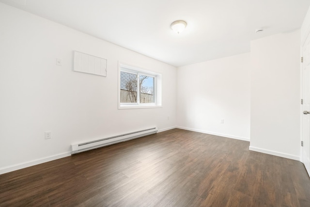
[[[121, 103], [121, 71], [135, 74], [138, 77], [145, 75], [154, 78], [154, 103], [140, 103], [140, 91], [137, 90], [137, 103]], [[139, 89], [139, 81], [137, 88]], [[119, 62], [118, 67], [118, 109], [145, 109], [161, 107], [161, 74], [141, 69], [137, 66]]]

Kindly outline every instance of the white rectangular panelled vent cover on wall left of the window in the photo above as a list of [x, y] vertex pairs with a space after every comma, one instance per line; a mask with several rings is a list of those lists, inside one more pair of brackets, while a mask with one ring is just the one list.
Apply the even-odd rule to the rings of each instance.
[[107, 60], [86, 53], [74, 51], [74, 71], [107, 76]]

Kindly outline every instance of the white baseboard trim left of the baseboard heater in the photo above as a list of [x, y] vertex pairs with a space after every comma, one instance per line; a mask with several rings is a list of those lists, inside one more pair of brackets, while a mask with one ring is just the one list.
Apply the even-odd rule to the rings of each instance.
[[64, 152], [61, 154], [57, 154], [57, 155], [53, 155], [53, 156], [49, 156], [49, 157], [45, 157], [45, 158], [41, 158], [41, 159], [34, 159], [31, 161], [22, 162], [19, 164], [10, 165], [7, 167], [2, 167], [2, 168], [0, 168], [0, 175], [5, 174], [5, 173], [9, 173], [12, 171], [16, 171], [16, 170], [19, 170], [22, 168], [31, 167], [33, 165], [42, 164], [44, 162], [52, 161], [55, 159], [61, 159], [61, 158], [68, 157], [68, 156], [71, 156], [71, 152]]

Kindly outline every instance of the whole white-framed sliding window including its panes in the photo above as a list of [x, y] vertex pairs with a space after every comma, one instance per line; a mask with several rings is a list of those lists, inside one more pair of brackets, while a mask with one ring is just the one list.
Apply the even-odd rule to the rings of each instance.
[[120, 64], [119, 109], [158, 106], [161, 106], [161, 75]]

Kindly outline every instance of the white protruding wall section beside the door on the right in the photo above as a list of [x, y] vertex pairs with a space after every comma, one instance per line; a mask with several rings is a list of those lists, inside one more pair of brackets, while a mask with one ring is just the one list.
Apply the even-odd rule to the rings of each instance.
[[250, 149], [299, 160], [300, 31], [251, 41]]

